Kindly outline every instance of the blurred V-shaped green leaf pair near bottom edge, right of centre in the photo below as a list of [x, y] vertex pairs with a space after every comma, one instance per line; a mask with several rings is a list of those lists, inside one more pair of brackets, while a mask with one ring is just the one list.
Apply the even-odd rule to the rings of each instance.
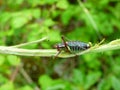
[[73, 82], [83, 90], [89, 90], [90, 87], [94, 85], [101, 76], [100, 72], [90, 72], [85, 75], [85, 73], [80, 70], [74, 70], [73, 74]]

